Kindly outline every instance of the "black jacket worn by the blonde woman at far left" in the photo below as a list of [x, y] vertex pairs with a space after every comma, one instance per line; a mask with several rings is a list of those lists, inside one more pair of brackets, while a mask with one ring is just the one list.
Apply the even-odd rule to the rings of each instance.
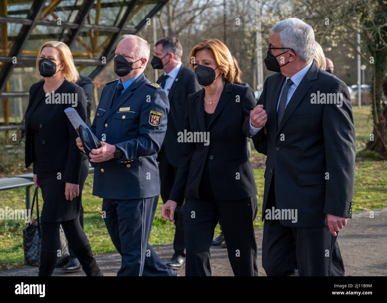
[[[43, 91], [44, 81], [34, 83], [29, 90], [29, 103], [26, 110], [26, 168], [35, 161], [33, 159], [34, 144], [29, 130], [28, 122], [31, 113], [45, 96]], [[78, 114], [86, 122], [86, 97], [85, 93], [78, 85], [65, 80], [55, 93], [77, 93]], [[46, 115], [42, 117], [42, 124], [39, 128], [39, 137], [45, 142], [45, 162], [48, 171], [58, 171], [64, 169], [63, 182], [79, 184], [81, 163], [84, 154], [79, 150], [75, 139], [77, 132], [63, 112], [71, 104], [46, 104]], [[34, 169], [34, 173], [36, 173]]]

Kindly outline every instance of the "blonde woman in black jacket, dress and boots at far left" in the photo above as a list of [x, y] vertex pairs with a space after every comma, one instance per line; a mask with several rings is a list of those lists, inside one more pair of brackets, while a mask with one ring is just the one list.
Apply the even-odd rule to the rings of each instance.
[[[62, 224], [68, 245], [87, 276], [102, 276], [79, 223], [82, 188], [87, 177], [77, 132], [64, 110], [75, 108], [86, 122], [86, 97], [74, 82], [79, 74], [70, 49], [59, 41], [44, 43], [36, 59], [42, 81], [29, 90], [26, 110], [26, 168], [33, 163], [35, 187], [43, 197], [39, 276], [51, 276], [61, 249]], [[86, 165], [88, 165], [86, 163]]]

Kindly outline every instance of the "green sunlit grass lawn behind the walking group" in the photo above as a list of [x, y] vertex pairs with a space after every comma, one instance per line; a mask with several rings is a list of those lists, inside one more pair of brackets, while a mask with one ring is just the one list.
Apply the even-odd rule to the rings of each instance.
[[[356, 151], [364, 149], [367, 140], [372, 132], [372, 119], [370, 118], [370, 107], [364, 106], [359, 110], [353, 108], [355, 130], [356, 130]], [[265, 156], [253, 150], [252, 162], [261, 163], [254, 165], [255, 182], [258, 188], [258, 215], [254, 226], [262, 227], [261, 210], [264, 190], [264, 163]], [[105, 224], [101, 217], [102, 199], [92, 196], [92, 179], [90, 174], [86, 179], [83, 190], [84, 207], [84, 229], [91, 242], [95, 254], [116, 252]], [[387, 161], [371, 161], [368, 159], [356, 159], [356, 177], [353, 196], [353, 211], [372, 210], [374, 208], [387, 206]], [[25, 189], [0, 191], [0, 208], [25, 208]], [[42, 198], [39, 196], [42, 204]], [[161, 219], [160, 211], [162, 206], [159, 199], [156, 216], [154, 218], [151, 237], [151, 245], [168, 244], [173, 242], [174, 225]], [[40, 205], [41, 208], [41, 205]], [[351, 224], [351, 221], [349, 221]], [[23, 240], [22, 229], [25, 223], [19, 220], [2, 220], [0, 222], [0, 270], [12, 267], [23, 266]], [[215, 234], [219, 234], [219, 225]]]

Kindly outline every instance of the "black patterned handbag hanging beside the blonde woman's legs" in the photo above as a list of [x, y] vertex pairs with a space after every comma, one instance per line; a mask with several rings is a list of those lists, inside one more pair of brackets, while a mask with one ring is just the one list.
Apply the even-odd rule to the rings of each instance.
[[[34, 203], [36, 199], [36, 213], [37, 217], [33, 223], [31, 223], [31, 218], [28, 226], [23, 229], [23, 250], [24, 250], [24, 264], [28, 266], [37, 266], [40, 264], [40, 249], [41, 249], [41, 239], [42, 232], [39, 222], [39, 204], [38, 204], [38, 188], [35, 188], [34, 198], [32, 201], [31, 207], [31, 217], [34, 210]], [[65, 233], [62, 230], [62, 225], [60, 225], [59, 230], [60, 235], [60, 245], [62, 255], [58, 260], [70, 256], [68, 251], [67, 239]]]

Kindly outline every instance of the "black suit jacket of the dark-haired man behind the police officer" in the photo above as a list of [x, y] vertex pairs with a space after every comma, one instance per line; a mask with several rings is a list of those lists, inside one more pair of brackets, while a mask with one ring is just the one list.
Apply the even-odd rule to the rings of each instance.
[[[160, 84], [163, 75], [156, 81], [158, 84]], [[169, 163], [175, 167], [179, 165], [182, 154], [182, 144], [177, 142], [177, 134], [184, 131], [185, 103], [188, 95], [200, 89], [202, 86], [197, 83], [194, 71], [182, 65], [168, 93], [170, 112], [168, 113], [167, 131], [162, 147]]]

